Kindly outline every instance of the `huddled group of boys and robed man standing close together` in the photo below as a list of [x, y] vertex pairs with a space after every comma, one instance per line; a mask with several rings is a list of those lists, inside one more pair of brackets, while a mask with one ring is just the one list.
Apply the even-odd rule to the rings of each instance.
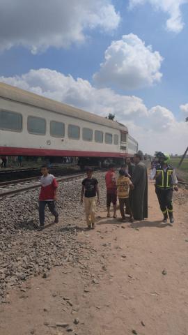
[[116, 203], [119, 200], [120, 214], [126, 221], [125, 214], [130, 214], [130, 221], [148, 218], [148, 174], [141, 162], [141, 155], [134, 156], [132, 163], [127, 158], [125, 165], [119, 170], [116, 180], [115, 167], [111, 165], [106, 176], [107, 217], [110, 216], [110, 204], [113, 204], [113, 217], [116, 218]]

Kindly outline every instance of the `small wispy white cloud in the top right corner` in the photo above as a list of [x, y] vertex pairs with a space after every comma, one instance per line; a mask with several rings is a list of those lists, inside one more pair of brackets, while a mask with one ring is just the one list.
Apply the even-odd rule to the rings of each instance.
[[188, 3], [187, 0], [130, 0], [130, 8], [145, 3], [150, 3], [156, 10], [162, 10], [169, 15], [169, 19], [166, 20], [166, 29], [168, 31], [175, 33], [182, 31], [184, 22], [182, 21], [180, 6]]

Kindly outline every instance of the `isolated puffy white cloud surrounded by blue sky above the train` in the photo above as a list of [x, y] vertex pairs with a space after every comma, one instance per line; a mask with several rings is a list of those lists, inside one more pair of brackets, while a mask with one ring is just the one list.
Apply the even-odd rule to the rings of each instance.
[[152, 47], [136, 35], [122, 36], [107, 48], [104, 63], [100, 71], [93, 75], [95, 82], [101, 86], [114, 85], [120, 89], [138, 89], [159, 82], [162, 56], [152, 52]]

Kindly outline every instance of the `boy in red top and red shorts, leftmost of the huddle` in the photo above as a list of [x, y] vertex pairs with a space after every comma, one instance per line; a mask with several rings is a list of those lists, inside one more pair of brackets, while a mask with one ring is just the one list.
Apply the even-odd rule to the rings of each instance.
[[113, 204], [113, 218], [116, 218], [116, 204], [117, 204], [117, 181], [115, 174], [115, 165], [109, 165], [109, 171], [105, 175], [107, 186], [107, 218], [110, 218], [110, 205]]

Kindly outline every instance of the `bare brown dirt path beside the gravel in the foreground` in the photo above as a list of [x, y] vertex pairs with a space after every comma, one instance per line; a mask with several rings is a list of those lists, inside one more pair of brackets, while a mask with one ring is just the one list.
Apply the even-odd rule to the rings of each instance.
[[187, 192], [175, 200], [173, 227], [160, 222], [152, 182], [147, 221], [97, 213], [95, 230], [78, 235], [88, 243], [86, 259], [11, 290], [0, 305], [0, 334], [187, 335]]

